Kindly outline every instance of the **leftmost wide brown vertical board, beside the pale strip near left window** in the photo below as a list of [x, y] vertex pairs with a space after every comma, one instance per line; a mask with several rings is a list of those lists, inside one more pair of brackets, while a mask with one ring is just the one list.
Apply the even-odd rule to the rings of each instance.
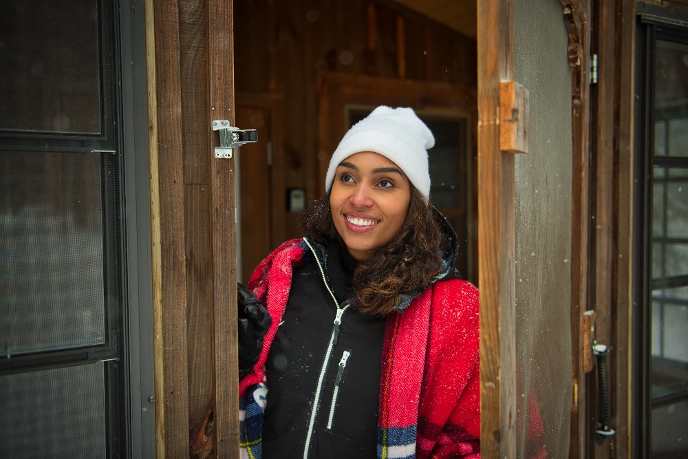
[[[160, 214], [160, 273], [162, 325], [162, 423], [164, 457], [189, 455], [189, 386], [186, 368], [186, 276], [184, 248], [184, 189], [182, 155], [182, 101], [180, 85], [179, 12], [176, 3], [153, 0], [155, 85], [158, 122]], [[154, 186], [154, 185], [153, 185]], [[155, 213], [155, 211], [153, 211]], [[158, 336], [155, 337], [156, 342]], [[159, 349], [159, 348], [156, 348]], [[157, 392], [157, 391], [156, 391]], [[161, 443], [158, 443], [158, 447]], [[160, 452], [158, 452], [160, 456]]]

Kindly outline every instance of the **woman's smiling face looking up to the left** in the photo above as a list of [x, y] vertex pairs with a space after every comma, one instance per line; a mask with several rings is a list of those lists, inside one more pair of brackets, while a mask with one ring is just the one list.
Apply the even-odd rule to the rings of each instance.
[[354, 153], [334, 173], [332, 220], [357, 260], [367, 259], [394, 239], [410, 203], [411, 182], [394, 162], [378, 153]]

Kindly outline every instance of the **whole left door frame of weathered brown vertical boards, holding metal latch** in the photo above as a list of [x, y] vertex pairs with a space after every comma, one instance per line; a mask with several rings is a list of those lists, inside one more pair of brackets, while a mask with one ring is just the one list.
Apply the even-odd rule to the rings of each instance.
[[[234, 122], [233, 3], [183, 7], [144, 0], [155, 361], [149, 401], [158, 458], [188, 457], [192, 444], [206, 456], [238, 457], [234, 160], [213, 158], [219, 136], [211, 131], [211, 120]], [[192, 398], [198, 419], [190, 418]]]

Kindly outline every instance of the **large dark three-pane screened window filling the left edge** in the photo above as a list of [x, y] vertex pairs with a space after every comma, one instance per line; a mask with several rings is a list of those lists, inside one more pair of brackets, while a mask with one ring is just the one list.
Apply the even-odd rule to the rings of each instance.
[[0, 2], [3, 458], [127, 451], [118, 8]]

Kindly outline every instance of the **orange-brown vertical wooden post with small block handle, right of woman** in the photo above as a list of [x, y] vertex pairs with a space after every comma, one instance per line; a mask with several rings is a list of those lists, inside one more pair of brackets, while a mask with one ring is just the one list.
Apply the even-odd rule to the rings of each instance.
[[499, 81], [513, 75], [513, 3], [478, 2], [481, 456], [516, 457], [514, 156], [499, 150]]

